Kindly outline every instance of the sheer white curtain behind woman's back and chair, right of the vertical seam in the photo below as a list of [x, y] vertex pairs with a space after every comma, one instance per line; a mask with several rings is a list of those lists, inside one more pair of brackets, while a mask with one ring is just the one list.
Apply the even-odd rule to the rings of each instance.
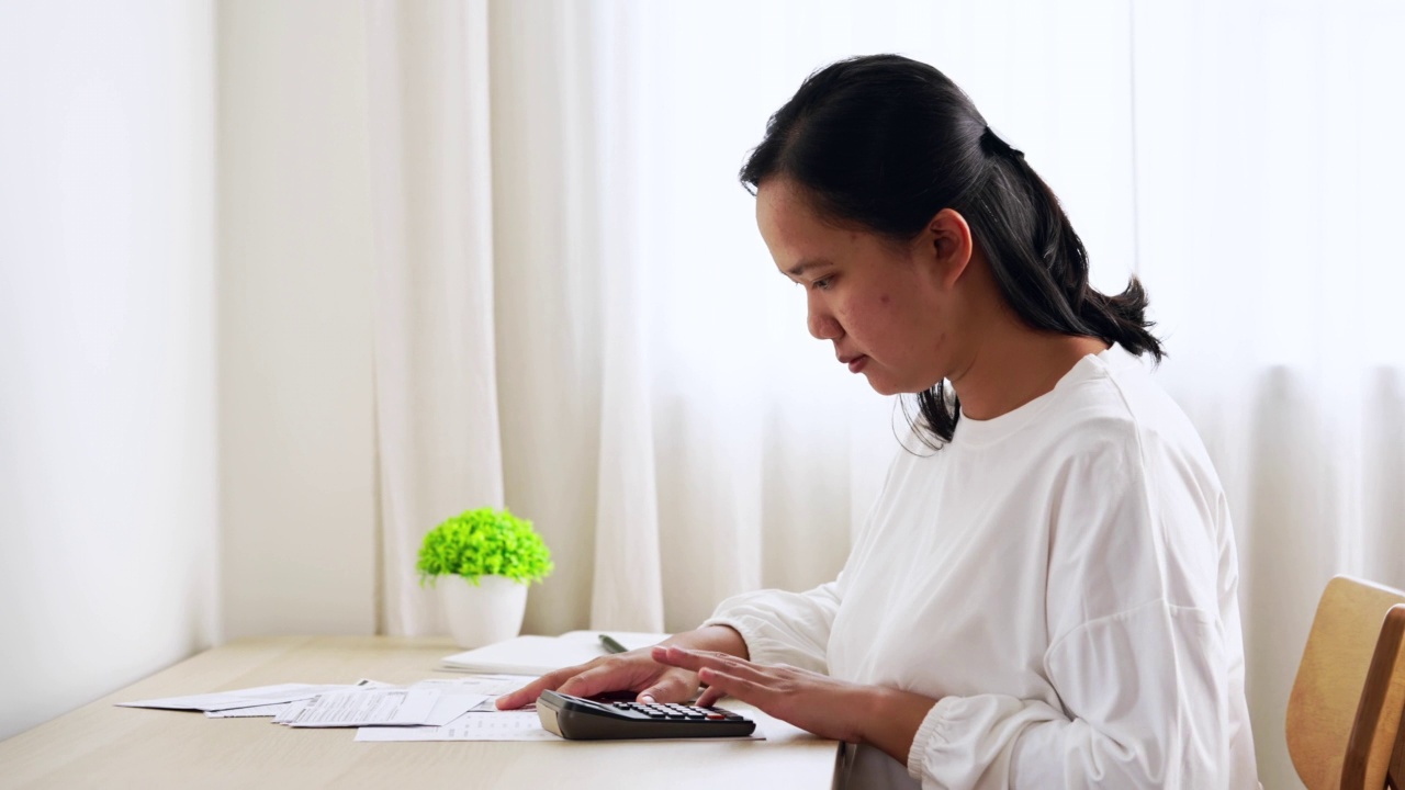
[[1137, 4], [1141, 274], [1238, 530], [1264, 787], [1333, 574], [1405, 588], [1405, 6]]

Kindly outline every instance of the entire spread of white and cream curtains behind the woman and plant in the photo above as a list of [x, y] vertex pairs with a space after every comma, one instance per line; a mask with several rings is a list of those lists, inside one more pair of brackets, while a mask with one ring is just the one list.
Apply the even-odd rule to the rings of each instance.
[[372, 3], [384, 614], [506, 503], [558, 569], [527, 628], [679, 630], [833, 576], [902, 416], [804, 328], [736, 170], [812, 69], [930, 62], [1139, 274], [1229, 492], [1267, 787], [1333, 572], [1405, 586], [1399, 6]]

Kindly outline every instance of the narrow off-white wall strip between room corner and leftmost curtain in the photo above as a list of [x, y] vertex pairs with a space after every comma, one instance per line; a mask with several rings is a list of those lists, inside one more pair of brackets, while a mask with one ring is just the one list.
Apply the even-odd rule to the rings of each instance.
[[361, 3], [219, 4], [225, 635], [375, 628]]

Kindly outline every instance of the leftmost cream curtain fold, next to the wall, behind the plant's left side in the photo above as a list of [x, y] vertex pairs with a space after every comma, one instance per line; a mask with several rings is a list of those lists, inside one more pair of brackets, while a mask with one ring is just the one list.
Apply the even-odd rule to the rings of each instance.
[[381, 626], [436, 634], [420, 540], [503, 505], [488, 3], [374, 1], [368, 20]]

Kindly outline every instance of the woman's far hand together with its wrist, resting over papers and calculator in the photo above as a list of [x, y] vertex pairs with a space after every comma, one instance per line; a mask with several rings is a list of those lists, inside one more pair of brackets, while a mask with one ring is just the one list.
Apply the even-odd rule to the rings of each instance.
[[[726, 626], [705, 626], [663, 640], [663, 645], [725, 652], [747, 658], [746, 641]], [[545, 690], [576, 697], [606, 692], [638, 692], [639, 701], [686, 703], [701, 687], [697, 672], [653, 661], [653, 648], [600, 656], [589, 663], [548, 672], [521, 689], [497, 697], [497, 710], [511, 710], [535, 701]]]

